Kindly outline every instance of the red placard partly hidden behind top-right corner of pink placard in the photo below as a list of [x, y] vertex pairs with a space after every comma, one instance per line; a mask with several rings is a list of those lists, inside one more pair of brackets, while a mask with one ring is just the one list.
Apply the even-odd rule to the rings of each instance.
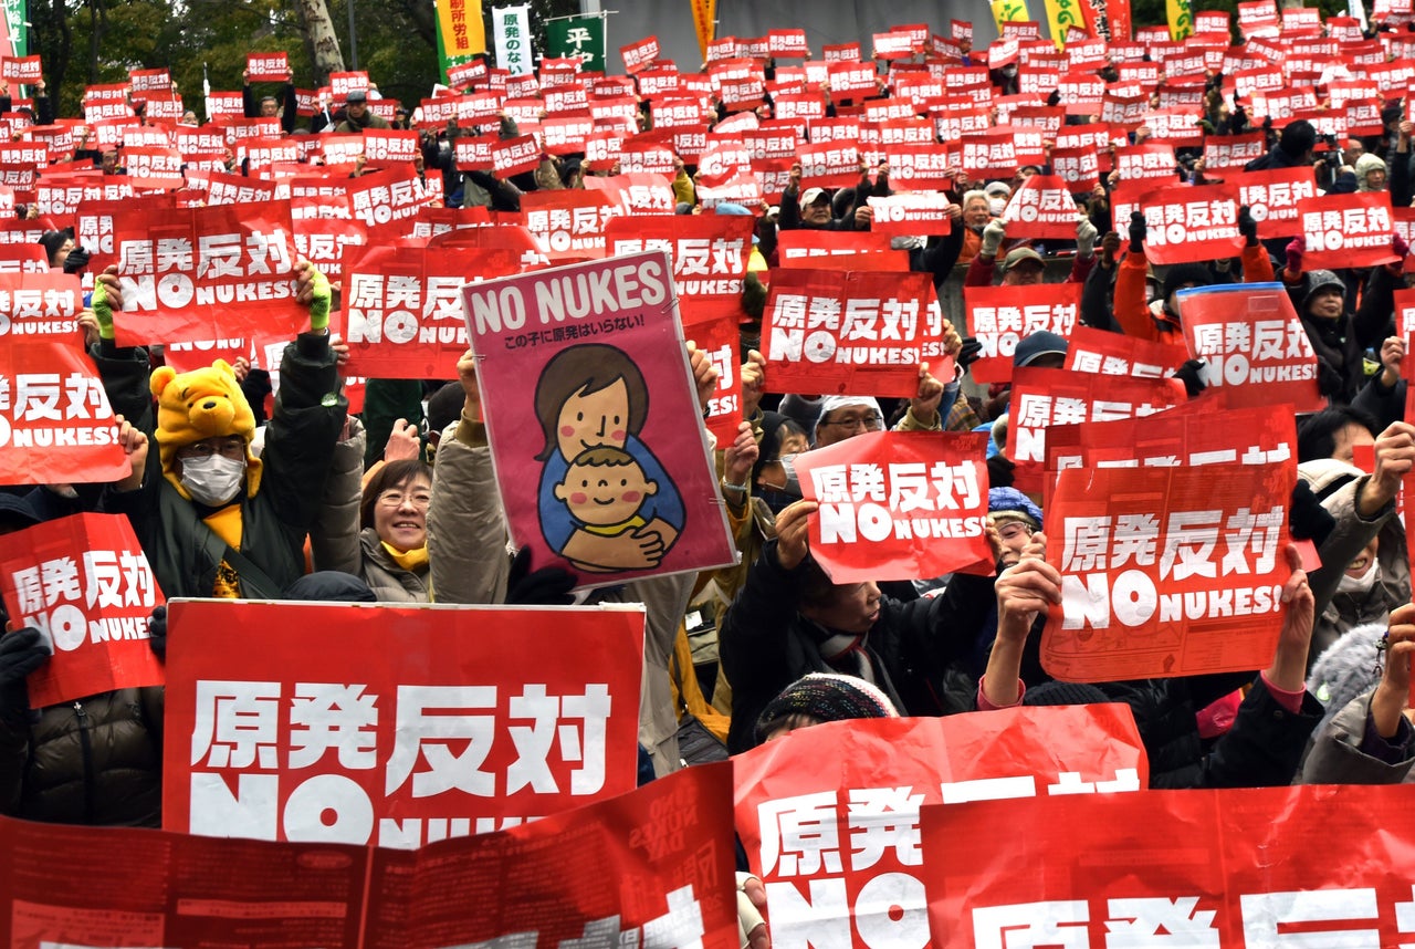
[[741, 296], [756, 218], [727, 214], [617, 217], [604, 228], [610, 256], [668, 249], [678, 299]]

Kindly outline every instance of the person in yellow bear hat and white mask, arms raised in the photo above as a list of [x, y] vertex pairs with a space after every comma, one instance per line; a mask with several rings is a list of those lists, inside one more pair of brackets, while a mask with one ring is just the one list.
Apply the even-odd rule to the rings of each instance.
[[[250, 453], [255, 416], [224, 360], [183, 375], [163, 367], [147, 381], [157, 414], [140, 428], [151, 426], [158, 452], [140, 486], [112, 490], [103, 504], [133, 521], [168, 596], [275, 599], [304, 574], [304, 538], [320, 513], [348, 401], [328, 336], [330, 283], [308, 261], [294, 272], [310, 331], [284, 350], [262, 458]], [[120, 309], [109, 268], [93, 292], [102, 340], [113, 339]]]

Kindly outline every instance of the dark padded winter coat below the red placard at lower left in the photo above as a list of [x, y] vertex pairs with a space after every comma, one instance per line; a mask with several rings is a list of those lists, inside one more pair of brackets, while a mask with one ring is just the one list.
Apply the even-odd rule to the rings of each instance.
[[163, 690], [120, 688], [0, 722], [0, 813], [67, 824], [161, 824]]

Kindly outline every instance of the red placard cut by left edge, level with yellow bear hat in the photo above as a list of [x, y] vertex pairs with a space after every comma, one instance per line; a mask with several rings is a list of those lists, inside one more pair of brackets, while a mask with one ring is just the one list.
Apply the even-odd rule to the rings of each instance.
[[0, 482], [86, 484], [127, 476], [113, 409], [76, 336], [75, 324], [72, 341], [14, 339], [0, 347]]

